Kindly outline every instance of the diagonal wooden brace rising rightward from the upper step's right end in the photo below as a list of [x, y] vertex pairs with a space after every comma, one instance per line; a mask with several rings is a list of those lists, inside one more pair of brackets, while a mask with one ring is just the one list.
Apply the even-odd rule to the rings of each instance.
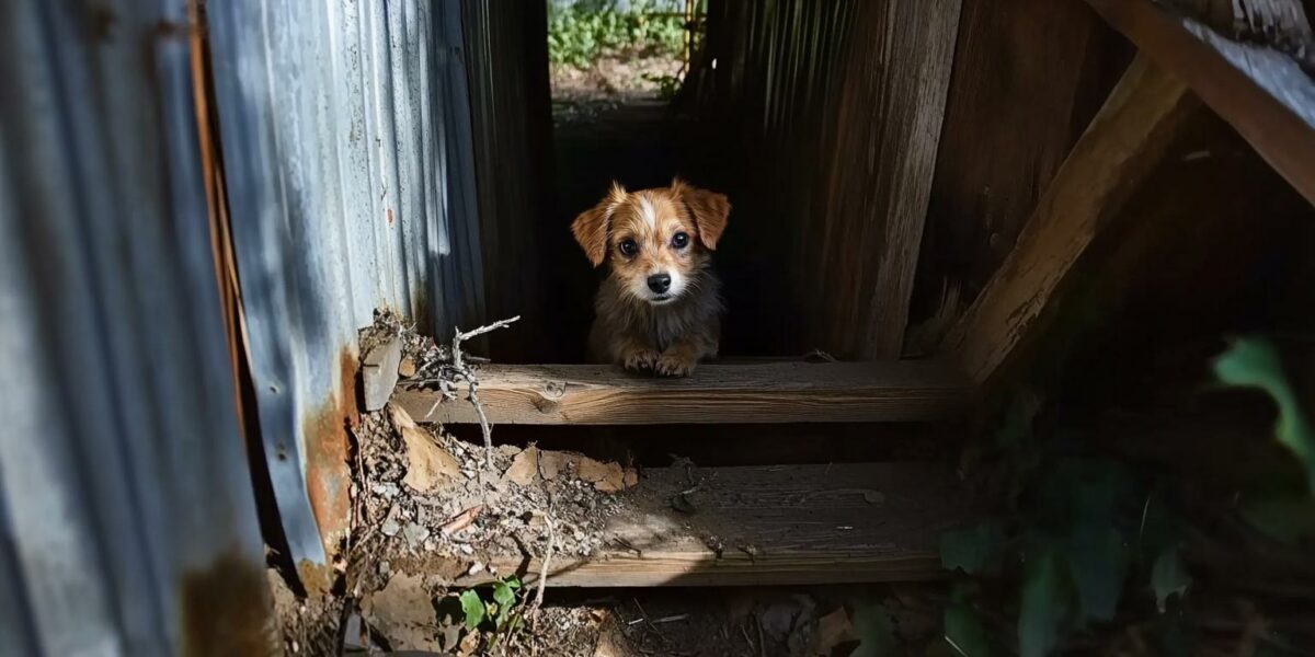
[[1137, 57], [942, 352], [974, 381], [992, 378], [1035, 330], [1034, 321], [1097, 233], [1160, 162], [1193, 106], [1182, 83]]

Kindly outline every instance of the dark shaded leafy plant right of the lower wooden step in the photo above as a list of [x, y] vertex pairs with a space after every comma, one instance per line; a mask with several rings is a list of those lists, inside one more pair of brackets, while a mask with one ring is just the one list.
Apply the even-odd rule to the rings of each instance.
[[[944, 612], [956, 654], [1052, 654], [1069, 632], [1112, 620], [1127, 598], [1155, 600], [1164, 612], [1191, 583], [1181, 520], [1160, 482], [1116, 461], [1065, 453], [1072, 436], [1034, 436], [1040, 405], [1020, 399], [994, 445], [1011, 476], [1009, 512], [942, 536], [942, 565], [969, 577]], [[981, 611], [999, 600], [988, 599], [978, 579], [1009, 585], [1014, 636], [992, 635]]]

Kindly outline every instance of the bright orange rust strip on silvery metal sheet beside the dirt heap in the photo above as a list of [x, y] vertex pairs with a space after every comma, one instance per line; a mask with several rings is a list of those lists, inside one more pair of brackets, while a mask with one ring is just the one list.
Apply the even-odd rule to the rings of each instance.
[[351, 348], [343, 348], [338, 355], [338, 392], [325, 399], [320, 410], [310, 413], [301, 427], [306, 445], [306, 493], [326, 555], [338, 552], [350, 530], [347, 427], [359, 422], [358, 369], [356, 355]]

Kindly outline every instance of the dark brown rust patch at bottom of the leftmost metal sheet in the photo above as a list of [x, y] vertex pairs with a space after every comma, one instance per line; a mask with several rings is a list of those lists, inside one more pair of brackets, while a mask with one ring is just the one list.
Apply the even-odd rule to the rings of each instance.
[[183, 574], [183, 654], [281, 654], [274, 604], [259, 561], [225, 552]]

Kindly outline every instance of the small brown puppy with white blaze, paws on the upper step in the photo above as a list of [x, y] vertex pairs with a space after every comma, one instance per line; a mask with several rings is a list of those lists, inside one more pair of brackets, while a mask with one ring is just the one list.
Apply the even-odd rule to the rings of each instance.
[[717, 355], [721, 283], [709, 268], [726, 230], [726, 196], [672, 180], [671, 187], [608, 196], [571, 225], [608, 277], [594, 298], [589, 357], [635, 372], [688, 376]]

